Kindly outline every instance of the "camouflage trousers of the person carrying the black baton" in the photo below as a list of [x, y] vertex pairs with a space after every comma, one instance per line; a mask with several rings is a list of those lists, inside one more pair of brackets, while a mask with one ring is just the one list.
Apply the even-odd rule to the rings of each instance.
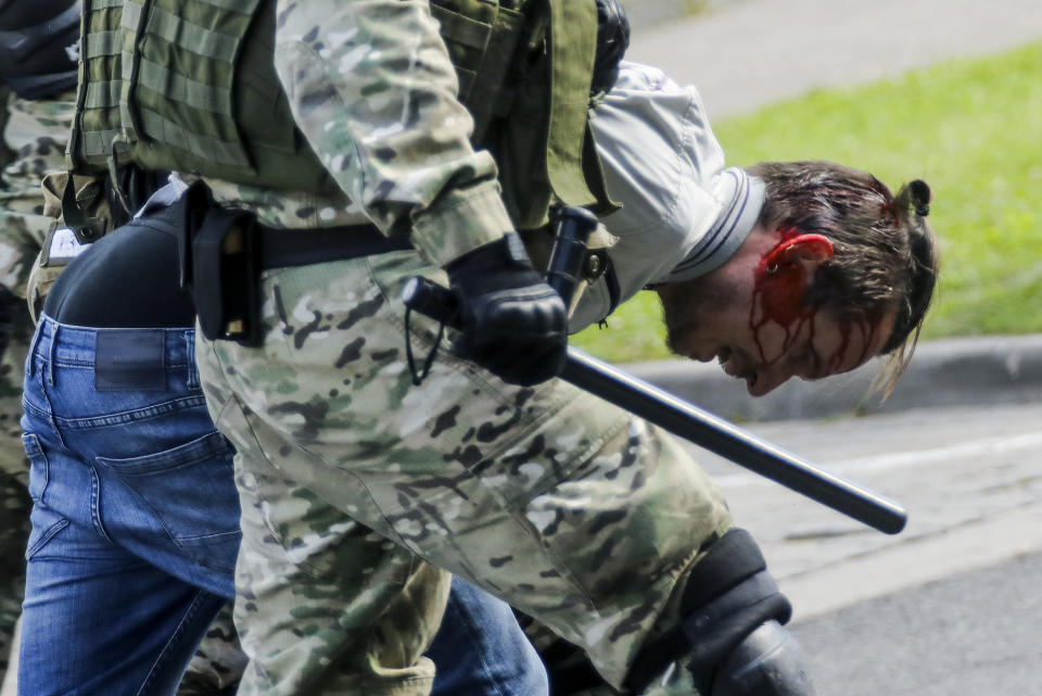
[[[442, 346], [414, 387], [397, 298], [435, 273], [410, 252], [269, 273], [263, 347], [198, 346], [211, 413], [239, 451], [244, 694], [289, 693], [351, 646], [369, 676], [398, 670], [397, 685], [338, 675], [322, 693], [425, 694], [407, 683], [429, 669], [414, 666], [434, 628], [418, 600], [441, 593], [419, 586], [444, 580], [419, 558], [535, 617], [619, 686], [675, 621], [702, 542], [730, 524], [672, 439], [567, 383], [511, 388]], [[421, 360], [436, 327], [410, 321]], [[676, 669], [655, 693], [696, 692]]]

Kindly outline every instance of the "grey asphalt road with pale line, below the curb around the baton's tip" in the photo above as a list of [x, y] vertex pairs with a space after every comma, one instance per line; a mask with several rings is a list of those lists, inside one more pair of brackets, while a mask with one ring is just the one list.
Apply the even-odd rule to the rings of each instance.
[[901, 503], [886, 535], [697, 447], [796, 607], [822, 696], [1042, 694], [1042, 398], [753, 423]]

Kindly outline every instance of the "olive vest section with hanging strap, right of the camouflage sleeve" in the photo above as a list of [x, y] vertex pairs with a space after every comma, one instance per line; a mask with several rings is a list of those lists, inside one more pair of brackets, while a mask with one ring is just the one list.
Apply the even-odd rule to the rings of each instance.
[[554, 198], [615, 210], [587, 127], [594, 0], [432, 0], [431, 14], [518, 228], [543, 226]]

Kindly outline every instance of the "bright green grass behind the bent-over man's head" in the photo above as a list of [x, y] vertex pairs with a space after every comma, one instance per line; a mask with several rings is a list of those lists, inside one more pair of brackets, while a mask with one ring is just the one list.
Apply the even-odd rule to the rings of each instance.
[[[1042, 43], [823, 90], [714, 125], [732, 165], [833, 160], [894, 190], [923, 178], [941, 252], [925, 339], [1042, 331]], [[640, 293], [573, 343], [658, 359], [658, 301]]]

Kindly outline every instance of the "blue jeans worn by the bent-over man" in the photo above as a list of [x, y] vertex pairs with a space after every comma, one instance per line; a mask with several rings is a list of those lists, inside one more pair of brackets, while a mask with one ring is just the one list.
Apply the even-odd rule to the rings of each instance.
[[[233, 451], [206, 412], [193, 346], [191, 329], [46, 316], [37, 328], [22, 420], [34, 505], [21, 694], [173, 694], [233, 596]], [[431, 656], [444, 672], [435, 694], [547, 692], [509, 607], [461, 582]]]

